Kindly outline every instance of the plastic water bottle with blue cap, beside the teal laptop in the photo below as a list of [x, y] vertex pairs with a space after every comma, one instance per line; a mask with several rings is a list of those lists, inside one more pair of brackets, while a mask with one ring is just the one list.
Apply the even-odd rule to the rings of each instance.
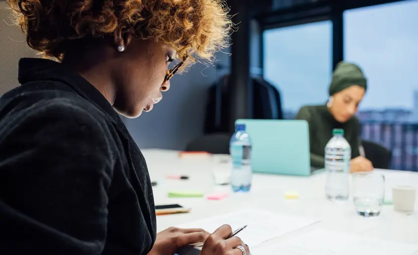
[[245, 132], [245, 124], [236, 124], [230, 141], [232, 158], [231, 186], [234, 192], [248, 192], [251, 188], [251, 140]]

